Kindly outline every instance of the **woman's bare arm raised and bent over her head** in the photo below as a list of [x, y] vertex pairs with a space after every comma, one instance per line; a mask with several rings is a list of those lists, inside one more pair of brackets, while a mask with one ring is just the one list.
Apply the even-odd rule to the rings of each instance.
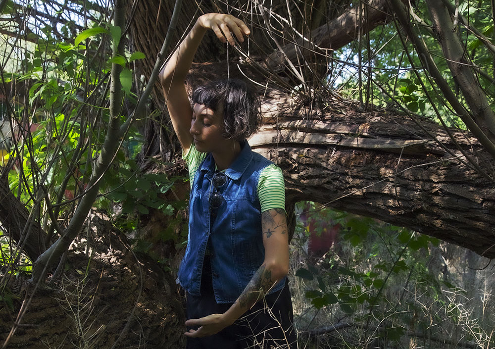
[[244, 35], [249, 34], [246, 24], [234, 16], [221, 13], [204, 14], [198, 18], [193, 29], [161, 70], [159, 79], [163, 95], [167, 102], [172, 125], [184, 152], [189, 150], [193, 140], [189, 133], [193, 110], [184, 80], [191, 68], [196, 50], [198, 50], [204, 33], [208, 29], [213, 30], [221, 42], [228, 41], [230, 45], [236, 43], [233, 35], [240, 42], [243, 42]]

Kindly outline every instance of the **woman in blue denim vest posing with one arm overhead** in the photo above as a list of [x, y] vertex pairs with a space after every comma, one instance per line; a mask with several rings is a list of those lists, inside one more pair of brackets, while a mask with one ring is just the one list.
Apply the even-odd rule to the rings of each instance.
[[297, 348], [286, 275], [289, 243], [280, 168], [246, 138], [260, 114], [238, 80], [193, 93], [184, 80], [205, 34], [235, 45], [250, 31], [231, 15], [198, 18], [160, 72], [191, 179], [188, 247], [179, 270], [186, 291], [187, 348]]

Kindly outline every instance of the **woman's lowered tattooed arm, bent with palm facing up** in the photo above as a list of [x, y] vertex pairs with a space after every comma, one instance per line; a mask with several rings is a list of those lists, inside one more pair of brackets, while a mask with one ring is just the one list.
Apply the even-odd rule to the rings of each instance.
[[289, 237], [285, 211], [269, 209], [261, 214], [265, 259], [247, 284], [237, 301], [223, 314], [211, 314], [186, 321], [186, 326], [200, 326], [190, 330], [188, 337], [211, 336], [232, 325], [258, 300], [270, 291], [289, 272]]

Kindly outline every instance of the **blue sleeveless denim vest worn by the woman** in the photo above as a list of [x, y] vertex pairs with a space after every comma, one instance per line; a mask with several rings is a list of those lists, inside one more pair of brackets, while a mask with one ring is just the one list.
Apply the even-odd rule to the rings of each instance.
[[[215, 173], [211, 154], [199, 166], [191, 186], [188, 244], [179, 268], [179, 282], [189, 294], [201, 296], [201, 272], [209, 239], [217, 303], [235, 302], [265, 257], [257, 186], [261, 171], [272, 162], [252, 152], [246, 141], [241, 146], [241, 153], [225, 170], [227, 183], [218, 189], [224, 200], [216, 216], [211, 215], [208, 204]], [[285, 279], [270, 293], [282, 289]]]

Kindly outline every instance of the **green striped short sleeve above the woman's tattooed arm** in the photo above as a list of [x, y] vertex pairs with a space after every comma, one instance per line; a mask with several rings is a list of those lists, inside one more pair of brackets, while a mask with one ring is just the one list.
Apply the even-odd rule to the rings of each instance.
[[285, 211], [284, 175], [277, 165], [269, 165], [261, 171], [258, 181], [258, 199], [261, 212], [272, 208], [282, 208]]

